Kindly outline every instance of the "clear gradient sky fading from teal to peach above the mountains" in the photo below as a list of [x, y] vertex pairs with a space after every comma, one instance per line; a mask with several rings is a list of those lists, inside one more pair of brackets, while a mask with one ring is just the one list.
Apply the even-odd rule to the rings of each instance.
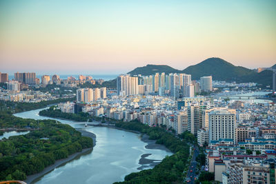
[[0, 1], [0, 72], [183, 70], [208, 57], [276, 63], [276, 1]]

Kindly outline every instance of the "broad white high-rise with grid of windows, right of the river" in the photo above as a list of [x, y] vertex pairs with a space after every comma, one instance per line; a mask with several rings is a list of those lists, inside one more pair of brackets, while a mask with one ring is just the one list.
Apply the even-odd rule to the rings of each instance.
[[235, 142], [236, 114], [233, 110], [214, 110], [209, 113], [209, 141], [233, 139]]

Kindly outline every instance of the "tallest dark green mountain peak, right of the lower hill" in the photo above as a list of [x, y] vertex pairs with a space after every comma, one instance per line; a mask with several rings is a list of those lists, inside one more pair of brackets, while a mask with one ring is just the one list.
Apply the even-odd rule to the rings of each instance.
[[191, 65], [182, 71], [185, 74], [191, 74], [193, 79], [200, 79], [201, 76], [213, 76], [213, 80], [219, 81], [240, 81], [242, 76], [255, 74], [253, 70], [242, 66], [235, 66], [224, 59], [212, 57]]

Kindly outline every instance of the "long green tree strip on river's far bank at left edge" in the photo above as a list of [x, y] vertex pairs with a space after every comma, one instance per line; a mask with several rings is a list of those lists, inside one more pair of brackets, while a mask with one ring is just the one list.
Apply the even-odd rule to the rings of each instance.
[[52, 101], [41, 101], [39, 103], [27, 103], [27, 102], [14, 102], [14, 101], [0, 101], [1, 111], [12, 111], [13, 113], [23, 112], [28, 110], [36, 110], [39, 108], [45, 108], [47, 105], [53, 103], [62, 103], [66, 101], [75, 101], [76, 97], [66, 99], [56, 99]]

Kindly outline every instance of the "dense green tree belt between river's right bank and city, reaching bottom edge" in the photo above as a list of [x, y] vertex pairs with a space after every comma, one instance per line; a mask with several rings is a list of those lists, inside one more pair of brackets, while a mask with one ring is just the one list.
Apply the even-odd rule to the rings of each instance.
[[149, 139], [157, 140], [156, 143], [165, 145], [169, 150], [175, 152], [172, 156], [166, 156], [153, 169], [128, 174], [124, 182], [117, 183], [182, 183], [183, 171], [188, 168], [189, 146], [187, 143], [195, 141], [192, 134], [184, 132], [181, 136], [187, 140], [181, 141], [161, 127], [149, 127], [137, 121], [117, 121], [115, 125], [126, 130], [148, 134]]

